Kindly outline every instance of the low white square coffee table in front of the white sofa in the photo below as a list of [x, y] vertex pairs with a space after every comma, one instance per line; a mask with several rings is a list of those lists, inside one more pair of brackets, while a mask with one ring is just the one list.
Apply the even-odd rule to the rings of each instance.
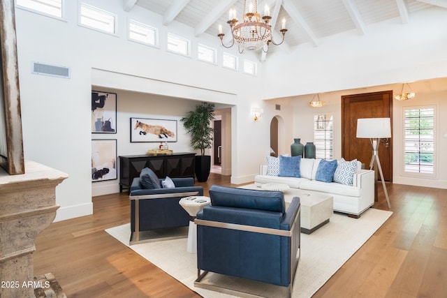
[[[249, 184], [241, 188], [263, 190], [261, 184]], [[321, 226], [329, 223], [334, 214], [334, 198], [326, 193], [302, 191], [298, 188], [288, 188], [284, 191], [284, 201], [292, 202], [293, 197], [299, 197], [301, 203], [301, 232], [311, 234]]]

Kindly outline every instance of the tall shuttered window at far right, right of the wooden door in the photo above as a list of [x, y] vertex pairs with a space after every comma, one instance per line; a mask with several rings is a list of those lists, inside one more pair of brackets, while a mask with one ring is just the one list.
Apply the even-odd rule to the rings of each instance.
[[434, 174], [434, 108], [404, 110], [404, 172]]

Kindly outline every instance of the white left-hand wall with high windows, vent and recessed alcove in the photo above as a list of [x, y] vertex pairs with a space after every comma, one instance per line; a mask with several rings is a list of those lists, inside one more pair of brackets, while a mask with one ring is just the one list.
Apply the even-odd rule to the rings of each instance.
[[[131, 114], [179, 119], [182, 112], [193, 107], [191, 102], [182, 103], [182, 100], [175, 101], [174, 98], [196, 100], [196, 103], [197, 100], [206, 100], [218, 103], [220, 107], [244, 103], [238, 109], [233, 108], [229, 117], [233, 137], [237, 137], [235, 124], [245, 126], [249, 123], [247, 115], [250, 105], [246, 105], [245, 100], [249, 100], [249, 103], [261, 101], [260, 94], [251, 94], [249, 91], [244, 94], [243, 91], [247, 86], [259, 89], [262, 69], [258, 70], [256, 77], [221, 67], [223, 48], [219, 46], [218, 38], [207, 34], [196, 38], [193, 29], [176, 22], [164, 27], [160, 15], [138, 6], [126, 13], [122, 10], [122, 1], [85, 2], [117, 14], [116, 36], [78, 26], [78, 1], [65, 2], [64, 21], [20, 8], [15, 10], [24, 155], [28, 160], [50, 165], [69, 174], [69, 178], [57, 188], [57, 203], [61, 208], [57, 212], [56, 221], [91, 214], [92, 194], [117, 189], [117, 181], [96, 182], [94, 188], [97, 189], [92, 192], [91, 138], [101, 138], [98, 134], [91, 134], [89, 125], [92, 85], [94, 89], [103, 87], [105, 91], [118, 93], [118, 107], [124, 109], [123, 114], [119, 114], [119, 121], [124, 122], [119, 124], [119, 133], [116, 135], [119, 140], [118, 154], [143, 151], [142, 147], [129, 144], [127, 136], [122, 135], [126, 133], [126, 128], [122, 126], [128, 125], [129, 120], [126, 119]], [[158, 27], [159, 47], [127, 40], [128, 17]], [[167, 32], [191, 38], [191, 57], [166, 52]], [[198, 42], [217, 47], [217, 65], [197, 61]], [[226, 51], [235, 54], [237, 50]], [[240, 58], [240, 68], [246, 57], [255, 60], [250, 54], [244, 55]], [[69, 67], [71, 77], [61, 79], [31, 74], [32, 61]], [[129, 96], [125, 91], [163, 94], [174, 100], [172, 103], [175, 105], [160, 105], [156, 112], [150, 110], [150, 103], [137, 110], [125, 110], [127, 107], [122, 98], [130, 98], [133, 107], [146, 100], [146, 96]], [[157, 103], [166, 103], [165, 99], [158, 98]], [[111, 135], [103, 137], [111, 138]], [[240, 146], [237, 142], [237, 138], [231, 142], [233, 157], [247, 147], [243, 136], [240, 137]], [[186, 143], [182, 140], [181, 144], [174, 146], [180, 151], [191, 151]], [[231, 164], [232, 179], [235, 181], [240, 176], [253, 174], [258, 167], [256, 161], [248, 168], [234, 161]]]

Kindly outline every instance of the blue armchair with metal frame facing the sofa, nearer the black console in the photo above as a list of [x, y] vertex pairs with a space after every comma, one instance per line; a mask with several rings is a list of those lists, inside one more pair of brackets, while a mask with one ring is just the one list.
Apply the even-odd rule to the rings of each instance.
[[[159, 179], [160, 184], [163, 179]], [[172, 178], [175, 188], [144, 188], [140, 178], [134, 178], [130, 189], [131, 241], [140, 239], [140, 232], [177, 228], [189, 225], [189, 214], [179, 205], [179, 200], [189, 195], [203, 195], [202, 186], [194, 186], [194, 179]]]

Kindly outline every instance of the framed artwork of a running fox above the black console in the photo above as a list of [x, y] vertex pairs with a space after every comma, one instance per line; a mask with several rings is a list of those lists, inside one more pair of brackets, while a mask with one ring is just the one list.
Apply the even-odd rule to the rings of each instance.
[[131, 142], [177, 142], [177, 120], [131, 118]]

